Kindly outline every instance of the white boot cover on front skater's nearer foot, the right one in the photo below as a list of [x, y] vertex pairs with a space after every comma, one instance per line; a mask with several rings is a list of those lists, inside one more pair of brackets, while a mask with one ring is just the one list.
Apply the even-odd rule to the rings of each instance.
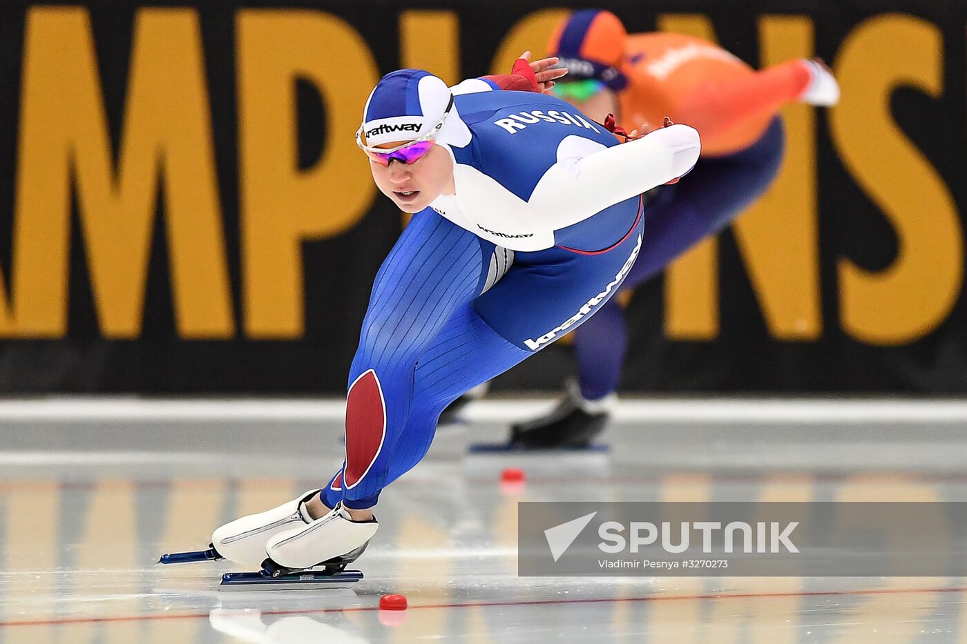
[[337, 504], [325, 516], [308, 525], [278, 533], [269, 540], [265, 553], [279, 566], [306, 569], [352, 552], [372, 539], [379, 523], [355, 522], [349, 512]]

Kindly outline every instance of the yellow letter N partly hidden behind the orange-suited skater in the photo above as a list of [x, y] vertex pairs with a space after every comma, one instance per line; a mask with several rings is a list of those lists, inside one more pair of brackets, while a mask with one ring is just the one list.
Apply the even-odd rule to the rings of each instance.
[[[662, 31], [715, 41], [705, 15], [660, 15]], [[805, 16], [767, 16], [759, 25], [762, 66], [808, 57], [812, 25]], [[774, 337], [819, 336], [814, 116], [806, 105], [782, 111], [786, 149], [776, 181], [732, 224], [766, 325]], [[718, 242], [710, 237], [675, 260], [665, 274], [665, 333], [679, 339], [718, 336]]]

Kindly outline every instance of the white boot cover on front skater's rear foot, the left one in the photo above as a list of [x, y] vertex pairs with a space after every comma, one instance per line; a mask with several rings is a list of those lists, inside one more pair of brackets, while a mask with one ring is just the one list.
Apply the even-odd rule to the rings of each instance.
[[309, 490], [278, 508], [226, 523], [212, 533], [212, 545], [229, 561], [252, 569], [261, 568], [265, 561], [266, 542], [295, 525], [305, 527], [312, 519], [304, 503], [318, 493], [317, 489]]

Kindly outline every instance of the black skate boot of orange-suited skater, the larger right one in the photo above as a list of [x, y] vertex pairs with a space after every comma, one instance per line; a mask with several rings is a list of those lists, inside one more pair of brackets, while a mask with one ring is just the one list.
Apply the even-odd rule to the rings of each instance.
[[584, 400], [576, 385], [550, 414], [511, 426], [511, 447], [522, 450], [554, 448], [587, 449], [604, 431], [614, 395], [599, 400]]

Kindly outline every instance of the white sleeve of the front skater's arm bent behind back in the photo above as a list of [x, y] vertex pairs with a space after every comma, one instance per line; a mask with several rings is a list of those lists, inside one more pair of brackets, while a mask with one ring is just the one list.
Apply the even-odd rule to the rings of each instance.
[[687, 173], [698, 161], [698, 132], [673, 125], [610, 148], [579, 136], [558, 146], [528, 206], [560, 228]]

